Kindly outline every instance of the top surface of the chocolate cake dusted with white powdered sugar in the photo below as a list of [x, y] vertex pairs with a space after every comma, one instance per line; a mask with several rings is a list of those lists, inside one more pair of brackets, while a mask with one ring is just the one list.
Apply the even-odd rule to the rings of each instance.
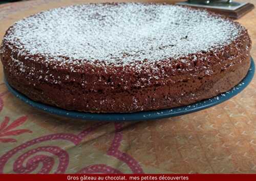
[[209, 12], [163, 4], [84, 4], [16, 22], [5, 40], [20, 54], [69, 64], [133, 64], [224, 47], [243, 28]]

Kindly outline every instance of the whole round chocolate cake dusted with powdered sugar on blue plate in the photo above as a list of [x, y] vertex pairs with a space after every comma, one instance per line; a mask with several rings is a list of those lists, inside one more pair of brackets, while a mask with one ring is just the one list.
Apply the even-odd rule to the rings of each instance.
[[204, 10], [106, 3], [57, 8], [12, 25], [1, 46], [9, 84], [68, 110], [135, 112], [188, 105], [237, 85], [247, 30]]

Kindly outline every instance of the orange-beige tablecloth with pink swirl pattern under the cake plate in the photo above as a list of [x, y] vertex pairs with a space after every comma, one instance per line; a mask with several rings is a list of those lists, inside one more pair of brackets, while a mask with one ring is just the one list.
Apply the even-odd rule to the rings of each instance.
[[[102, 1], [0, 5], [0, 39], [23, 17], [88, 2]], [[249, 31], [256, 60], [255, 16], [256, 9], [238, 21]], [[137, 123], [72, 120], [12, 96], [1, 64], [0, 173], [256, 173], [255, 94], [256, 77], [238, 96], [185, 116]]]

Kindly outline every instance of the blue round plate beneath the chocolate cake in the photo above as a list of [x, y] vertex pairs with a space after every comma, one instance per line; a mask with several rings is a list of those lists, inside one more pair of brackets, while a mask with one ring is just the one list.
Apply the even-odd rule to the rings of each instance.
[[141, 111], [141, 112], [134, 112], [134, 113], [97, 114], [97, 113], [90, 113], [90, 112], [79, 112], [79, 111], [61, 109], [55, 106], [50, 106], [40, 102], [35, 102], [29, 99], [28, 97], [26, 97], [25, 95], [23, 95], [22, 93], [19, 93], [14, 88], [12, 88], [7, 81], [5, 81], [5, 83], [9, 91], [13, 95], [15, 95], [17, 98], [21, 99], [22, 101], [26, 102], [32, 107], [41, 109], [45, 112], [49, 112], [50, 114], [69, 117], [69, 118], [77, 118], [82, 120], [94, 120], [94, 121], [142, 121], [142, 120], [154, 120], [154, 119], [181, 116], [181, 115], [188, 114], [190, 112], [196, 112], [196, 111], [220, 104], [232, 98], [233, 96], [236, 96], [237, 94], [239, 94], [252, 80], [254, 71], [255, 71], [255, 66], [254, 66], [253, 59], [251, 58], [250, 69], [246, 77], [238, 85], [236, 85], [226, 93], [220, 94], [211, 99], [190, 104], [188, 106], [181, 106], [181, 107], [175, 107], [171, 109], [162, 109], [162, 110]]

